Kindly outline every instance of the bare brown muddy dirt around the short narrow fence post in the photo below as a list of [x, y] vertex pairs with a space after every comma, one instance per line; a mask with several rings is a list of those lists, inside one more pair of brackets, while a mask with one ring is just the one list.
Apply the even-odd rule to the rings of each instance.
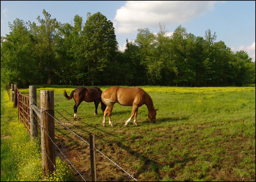
[[[75, 166], [77, 171], [75, 169], [73, 171], [76, 175], [76, 181], [91, 181], [90, 146], [84, 145], [84, 143], [82, 144], [80, 142], [67, 146], [67, 143], [70, 141], [69, 138], [63, 136], [56, 136], [56, 138], [60, 139], [60, 142], [56, 143], [60, 149], [56, 149], [56, 156], [59, 156], [62, 158], [62, 160], [65, 160], [67, 163], [70, 162]], [[116, 154], [115, 146], [98, 145], [97, 147], [99, 151], [101, 151], [103, 148], [107, 148], [110, 151], [110, 159], [120, 158], [120, 152]], [[68, 160], [63, 156], [62, 153], [67, 157]], [[96, 151], [96, 168], [98, 181], [135, 181], [131, 177], [129, 178], [128, 174], [126, 174], [122, 169], [120, 169], [98, 151]]]

